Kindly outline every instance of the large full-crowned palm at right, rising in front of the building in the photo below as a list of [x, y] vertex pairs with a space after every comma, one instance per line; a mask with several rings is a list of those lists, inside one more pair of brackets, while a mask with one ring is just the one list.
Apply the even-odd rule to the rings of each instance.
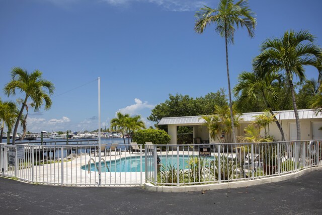
[[260, 72], [283, 72], [291, 90], [296, 120], [297, 140], [301, 139], [300, 121], [295, 101], [293, 77], [305, 81], [304, 65], [312, 65], [322, 74], [322, 50], [314, 44], [315, 37], [308, 31], [287, 31], [282, 38], [267, 39], [261, 45], [261, 53], [254, 59], [254, 68]]

